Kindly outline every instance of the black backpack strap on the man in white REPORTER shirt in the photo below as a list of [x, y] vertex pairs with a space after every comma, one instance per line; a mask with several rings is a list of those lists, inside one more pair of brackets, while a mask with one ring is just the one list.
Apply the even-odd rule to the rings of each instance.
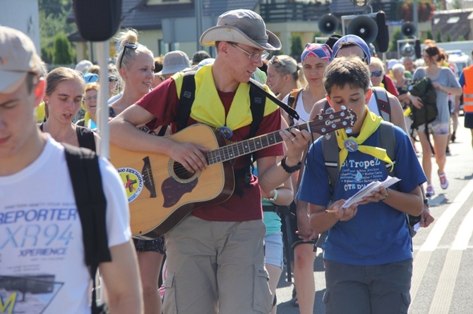
[[82, 225], [85, 265], [93, 280], [92, 314], [107, 313], [107, 305], [97, 306], [95, 274], [102, 262], [112, 261], [107, 237], [107, 199], [102, 188], [99, 159], [90, 149], [63, 144], [74, 197]]

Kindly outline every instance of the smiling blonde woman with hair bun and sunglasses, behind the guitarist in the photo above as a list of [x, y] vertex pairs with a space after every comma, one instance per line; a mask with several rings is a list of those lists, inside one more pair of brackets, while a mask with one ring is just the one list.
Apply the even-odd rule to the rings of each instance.
[[[123, 96], [109, 105], [109, 116], [114, 118], [150, 92], [155, 77], [155, 61], [146, 46], [138, 44], [135, 30], [123, 30], [116, 37], [119, 50], [116, 56], [116, 70], [123, 85]], [[150, 130], [140, 127], [145, 132]], [[161, 299], [158, 294], [160, 268], [164, 258], [164, 237], [154, 240], [133, 239], [138, 255], [145, 314], [161, 313]]]

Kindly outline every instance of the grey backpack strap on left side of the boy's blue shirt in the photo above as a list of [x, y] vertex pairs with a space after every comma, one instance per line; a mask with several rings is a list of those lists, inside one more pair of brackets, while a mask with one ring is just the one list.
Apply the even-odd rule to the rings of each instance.
[[325, 169], [328, 172], [328, 184], [330, 184], [330, 196], [333, 196], [333, 191], [338, 182], [338, 175], [340, 172], [340, 158], [337, 144], [337, 135], [335, 132], [330, 132], [329, 136], [322, 138], [322, 153]]

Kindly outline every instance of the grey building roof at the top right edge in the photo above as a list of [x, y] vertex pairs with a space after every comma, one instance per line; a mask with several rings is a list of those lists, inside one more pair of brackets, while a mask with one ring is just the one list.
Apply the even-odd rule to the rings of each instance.
[[450, 34], [451, 41], [456, 41], [463, 37], [469, 39], [471, 35], [471, 25], [473, 20], [473, 8], [462, 10], [435, 11], [432, 18], [432, 33], [440, 32], [443, 40], [447, 40], [446, 34]]

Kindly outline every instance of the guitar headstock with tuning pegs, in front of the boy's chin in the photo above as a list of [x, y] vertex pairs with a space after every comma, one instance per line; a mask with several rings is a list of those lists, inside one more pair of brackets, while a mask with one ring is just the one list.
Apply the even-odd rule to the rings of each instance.
[[357, 114], [351, 108], [342, 111], [323, 113], [309, 122], [310, 131], [318, 134], [327, 134], [339, 129], [353, 127], [357, 122]]

